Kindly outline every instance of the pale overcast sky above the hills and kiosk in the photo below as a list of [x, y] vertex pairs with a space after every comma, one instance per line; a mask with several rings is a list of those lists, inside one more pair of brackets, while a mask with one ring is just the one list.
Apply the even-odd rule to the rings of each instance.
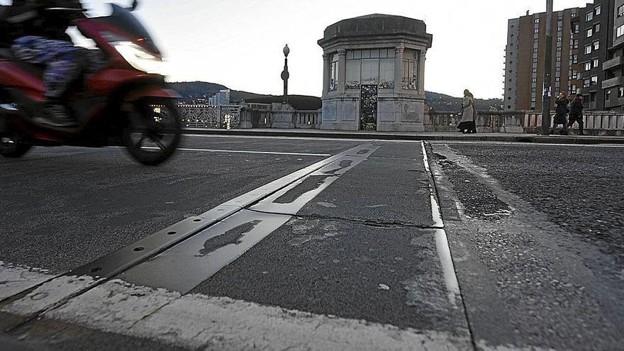
[[[85, 0], [104, 13], [109, 1]], [[119, 4], [131, 1], [120, 0]], [[585, 6], [555, 0], [555, 11]], [[9, 0], [0, 0], [7, 4]], [[503, 94], [508, 18], [546, 10], [546, 0], [143, 0], [137, 11], [169, 61], [170, 81], [213, 82], [230, 89], [282, 94], [288, 43], [289, 93], [321, 96], [327, 26], [371, 13], [425, 21], [433, 34], [425, 89], [479, 98]]]

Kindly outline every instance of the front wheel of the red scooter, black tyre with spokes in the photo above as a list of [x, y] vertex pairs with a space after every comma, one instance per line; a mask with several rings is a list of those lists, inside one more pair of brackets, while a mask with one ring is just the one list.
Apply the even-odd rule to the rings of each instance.
[[174, 101], [146, 99], [128, 113], [123, 143], [130, 156], [156, 166], [171, 157], [182, 138], [182, 117]]

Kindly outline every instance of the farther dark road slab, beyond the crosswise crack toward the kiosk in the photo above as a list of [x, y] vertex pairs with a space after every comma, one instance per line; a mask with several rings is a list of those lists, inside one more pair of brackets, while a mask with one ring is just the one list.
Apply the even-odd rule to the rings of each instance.
[[[420, 144], [382, 145], [299, 211], [300, 216], [433, 225]], [[400, 185], [399, 185], [400, 184]]]

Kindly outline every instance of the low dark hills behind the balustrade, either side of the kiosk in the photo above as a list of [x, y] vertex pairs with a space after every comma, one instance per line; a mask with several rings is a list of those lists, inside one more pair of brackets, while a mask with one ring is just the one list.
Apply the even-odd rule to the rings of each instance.
[[[208, 99], [208, 97], [218, 93], [219, 90], [228, 89], [224, 85], [208, 82], [176, 82], [171, 83], [171, 86], [183, 96], [186, 103], [192, 103], [197, 99]], [[426, 91], [425, 99], [433, 111], [459, 112], [462, 108], [462, 98], [460, 97]], [[282, 96], [230, 90], [230, 101], [233, 104], [238, 104], [243, 100], [270, 104], [282, 101]], [[298, 110], [316, 110], [321, 108], [321, 98], [318, 96], [290, 95], [289, 102], [291, 106]], [[479, 111], [489, 111], [491, 108], [498, 109], [503, 104], [502, 99], [475, 99], [475, 102]]]

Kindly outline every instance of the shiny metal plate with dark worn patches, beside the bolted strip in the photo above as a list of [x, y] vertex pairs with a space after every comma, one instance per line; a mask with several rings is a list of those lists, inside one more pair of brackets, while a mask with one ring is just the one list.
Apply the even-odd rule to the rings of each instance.
[[[250, 206], [250, 211], [244, 209], [234, 213], [189, 240], [123, 272], [119, 277], [133, 284], [165, 288], [183, 294], [191, 291], [284, 225], [308, 201], [342, 174], [366, 160], [378, 147], [372, 144], [354, 147], [324, 160], [323, 167], [308, 172], [305, 177], [291, 177], [289, 182], [284, 180], [283, 189], [265, 199], [256, 199], [260, 200], [258, 204], [250, 206], [251, 201], [242, 204], [244, 208]], [[323, 179], [318, 179], [319, 176]], [[308, 188], [308, 179], [314, 179], [316, 185]], [[296, 195], [289, 197], [289, 194]], [[287, 200], [280, 201], [285, 198]]]

